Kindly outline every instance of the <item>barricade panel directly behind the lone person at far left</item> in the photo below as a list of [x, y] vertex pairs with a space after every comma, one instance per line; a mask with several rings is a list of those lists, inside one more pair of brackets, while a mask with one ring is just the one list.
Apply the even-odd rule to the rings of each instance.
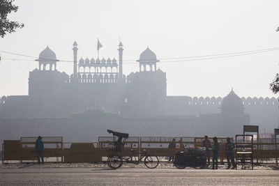
[[[42, 137], [44, 143], [43, 156], [56, 157], [56, 162], [63, 162], [63, 137]], [[36, 160], [35, 142], [38, 137], [21, 137], [21, 156], [20, 161]]]

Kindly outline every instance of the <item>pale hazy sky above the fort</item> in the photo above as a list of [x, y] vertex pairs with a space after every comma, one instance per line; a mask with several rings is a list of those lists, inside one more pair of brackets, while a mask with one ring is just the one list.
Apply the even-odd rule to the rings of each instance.
[[[0, 38], [0, 50], [37, 56], [48, 45], [57, 59], [97, 56], [118, 59], [119, 37], [123, 60], [136, 60], [147, 46], [158, 59], [243, 52], [279, 47], [279, 1], [15, 1], [10, 20], [24, 29]], [[32, 58], [0, 52], [0, 96], [27, 95]], [[7, 59], [29, 59], [13, 61]], [[181, 59], [180, 59], [181, 60]], [[166, 61], [166, 60], [162, 60]], [[279, 72], [279, 50], [225, 59], [158, 63], [167, 72], [167, 95], [225, 96], [231, 88], [240, 96], [276, 96], [269, 84]], [[58, 63], [69, 75], [73, 63]], [[139, 70], [124, 61], [123, 73]]]

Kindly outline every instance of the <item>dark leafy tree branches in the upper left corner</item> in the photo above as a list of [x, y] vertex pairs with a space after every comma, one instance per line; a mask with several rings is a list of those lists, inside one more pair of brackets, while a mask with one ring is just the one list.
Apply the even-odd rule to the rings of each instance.
[[14, 0], [0, 0], [0, 36], [3, 38], [6, 33], [15, 32], [15, 29], [24, 26], [15, 21], [8, 20], [7, 16], [11, 12], [17, 12], [18, 6], [13, 5]]

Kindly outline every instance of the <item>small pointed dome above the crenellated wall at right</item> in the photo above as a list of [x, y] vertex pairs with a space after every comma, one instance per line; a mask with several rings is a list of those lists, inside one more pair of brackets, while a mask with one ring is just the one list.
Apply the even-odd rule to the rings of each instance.
[[232, 90], [225, 98], [223, 98], [221, 108], [243, 108], [243, 102]]

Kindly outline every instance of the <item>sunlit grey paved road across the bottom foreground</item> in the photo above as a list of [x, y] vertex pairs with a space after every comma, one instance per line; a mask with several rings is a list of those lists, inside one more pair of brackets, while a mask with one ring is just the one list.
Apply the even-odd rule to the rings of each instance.
[[175, 168], [0, 169], [0, 185], [279, 185], [279, 171]]

